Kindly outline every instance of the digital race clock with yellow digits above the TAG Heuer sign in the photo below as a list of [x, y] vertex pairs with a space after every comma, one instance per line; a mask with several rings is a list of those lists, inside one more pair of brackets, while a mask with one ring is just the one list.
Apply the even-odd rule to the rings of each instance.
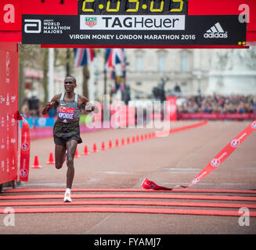
[[187, 0], [80, 0], [80, 15], [187, 15]]

